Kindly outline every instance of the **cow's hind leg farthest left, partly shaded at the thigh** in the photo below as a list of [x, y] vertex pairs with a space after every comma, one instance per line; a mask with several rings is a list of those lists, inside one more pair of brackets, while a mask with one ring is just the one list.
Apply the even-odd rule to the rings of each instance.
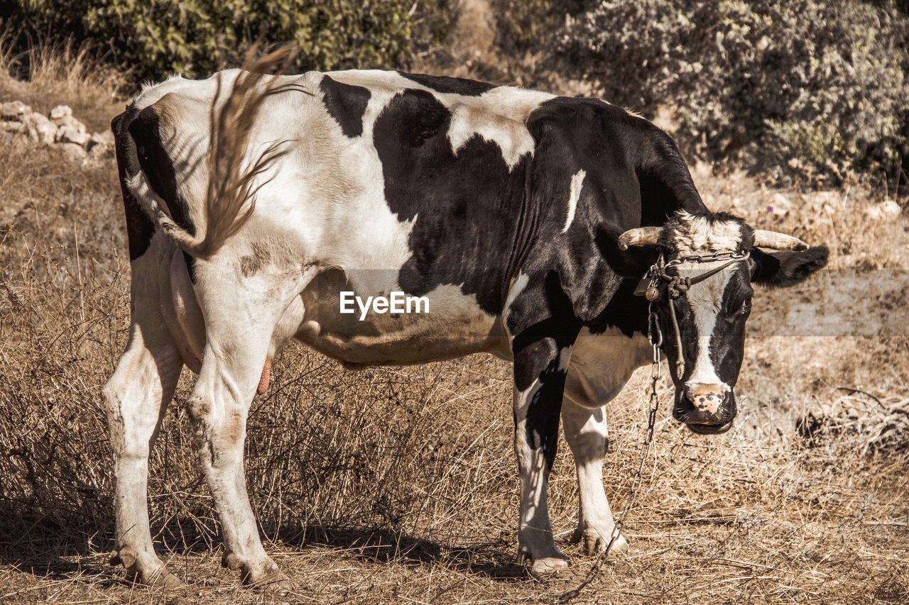
[[116, 536], [111, 563], [122, 563], [131, 580], [176, 588], [183, 582], [155, 555], [148, 526], [148, 455], [183, 368], [162, 327], [158, 302], [134, 295], [129, 343], [103, 391], [114, 451]]

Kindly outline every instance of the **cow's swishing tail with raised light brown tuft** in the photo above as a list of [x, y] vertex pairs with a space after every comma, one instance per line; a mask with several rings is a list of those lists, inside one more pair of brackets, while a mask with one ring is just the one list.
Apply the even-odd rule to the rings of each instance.
[[[270, 74], [290, 64], [295, 52], [292, 47], [284, 46], [254, 59], [256, 50], [254, 48], [247, 55], [244, 68], [230, 90], [222, 91], [223, 80], [218, 80], [209, 114], [208, 150], [204, 158], [198, 160], [205, 163], [207, 175], [203, 233], [196, 233], [195, 225], [189, 221], [185, 201], [179, 199], [176, 181], [180, 174], [176, 174], [177, 169], [173, 165], [170, 167], [169, 176], [175, 186], [168, 191], [161, 191], [167, 189], [166, 185], [155, 187], [154, 180], [147, 174], [139, 158], [136, 141], [128, 132], [129, 123], [139, 114], [138, 110], [127, 110], [117, 118], [124, 118], [123, 122], [117, 124], [115, 119], [113, 124], [117, 160], [121, 164], [121, 179], [125, 178], [125, 187], [161, 233], [185, 253], [196, 257], [214, 254], [228, 238], [243, 228], [255, 210], [255, 194], [269, 180], [263, 180], [262, 176], [289, 151], [285, 141], [276, 141], [267, 145], [254, 160], [249, 159], [251, 134], [265, 100], [285, 90], [280, 79]], [[224, 101], [221, 102], [221, 99]], [[166, 178], [162, 179], [159, 175], [156, 181], [160, 183]]]

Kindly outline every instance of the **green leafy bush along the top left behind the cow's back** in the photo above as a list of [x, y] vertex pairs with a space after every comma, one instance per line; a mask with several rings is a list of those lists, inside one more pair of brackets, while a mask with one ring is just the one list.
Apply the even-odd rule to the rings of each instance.
[[246, 48], [295, 42], [295, 67], [407, 67], [454, 25], [454, 0], [14, 0], [8, 25], [93, 40], [143, 77], [209, 74]]

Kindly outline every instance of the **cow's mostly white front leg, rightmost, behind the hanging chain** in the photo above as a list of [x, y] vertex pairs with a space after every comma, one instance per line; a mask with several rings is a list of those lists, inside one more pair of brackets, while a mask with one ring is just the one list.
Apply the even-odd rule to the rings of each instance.
[[[605, 407], [588, 408], [565, 397], [562, 403], [565, 441], [574, 455], [577, 471], [579, 508], [577, 529], [573, 542], [583, 542], [584, 552], [603, 552], [615, 529], [613, 512], [603, 489], [603, 459], [606, 453]], [[619, 535], [610, 553], [628, 549], [628, 542]]]

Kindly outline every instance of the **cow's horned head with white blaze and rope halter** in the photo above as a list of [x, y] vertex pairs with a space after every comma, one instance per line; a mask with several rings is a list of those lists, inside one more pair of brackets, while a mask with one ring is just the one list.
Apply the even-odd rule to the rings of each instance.
[[619, 238], [622, 249], [645, 245], [661, 253], [645, 279], [655, 286], [648, 298], [659, 314], [675, 384], [673, 415], [695, 432], [727, 431], [735, 417], [733, 389], [752, 284], [800, 283], [826, 264], [827, 249], [755, 231], [730, 214], [684, 211], [663, 227], [632, 229]]

